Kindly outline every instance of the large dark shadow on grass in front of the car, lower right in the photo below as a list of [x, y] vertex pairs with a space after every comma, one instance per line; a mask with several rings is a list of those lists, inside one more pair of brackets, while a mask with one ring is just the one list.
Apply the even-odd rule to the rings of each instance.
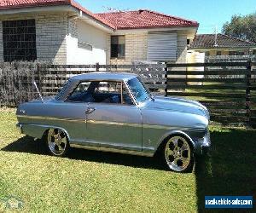
[[198, 211], [207, 211], [207, 195], [253, 195], [255, 206], [256, 131], [212, 131], [211, 138], [211, 152], [195, 166]]

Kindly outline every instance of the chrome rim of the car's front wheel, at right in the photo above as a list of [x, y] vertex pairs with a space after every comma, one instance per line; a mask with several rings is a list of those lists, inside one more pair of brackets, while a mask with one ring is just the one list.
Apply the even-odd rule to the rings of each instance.
[[186, 170], [190, 163], [191, 150], [188, 141], [181, 136], [174, 136], [166, 143], [166, 163], [171, 170]]

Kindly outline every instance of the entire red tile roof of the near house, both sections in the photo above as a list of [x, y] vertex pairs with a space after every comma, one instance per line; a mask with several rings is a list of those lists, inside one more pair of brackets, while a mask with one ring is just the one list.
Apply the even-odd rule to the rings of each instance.
[[102, 22], [113, 29], [138, 29], [177, 26], [199, 26], [196, 21], [184, 20], [171, 15], [160, 14], [149, 10], [93, 14], [74, 0], [0, 0], [0, 10], [21, 9], [54, 5], [70, 5], [79, 9], [91, 18]]

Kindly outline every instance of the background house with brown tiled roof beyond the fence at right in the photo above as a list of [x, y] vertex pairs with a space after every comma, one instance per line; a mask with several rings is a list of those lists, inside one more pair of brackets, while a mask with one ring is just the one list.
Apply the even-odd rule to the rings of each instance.
[[224, 34], [198, 34], [189, 46], [189, 51], [205, 56], [256, 55], [256, 43], [247, 42]]

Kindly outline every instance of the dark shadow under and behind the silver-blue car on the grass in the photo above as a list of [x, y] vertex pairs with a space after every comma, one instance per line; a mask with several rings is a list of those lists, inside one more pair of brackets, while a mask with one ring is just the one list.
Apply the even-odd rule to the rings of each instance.
[[[5, 152], [32, 153], [39, 155], [48, 155], [44, 142], [34, 141], [32, 137], [24, 136], [17, 141], [10, 143], [2, 148]], [[79, 148], [71, 148], [67, 153], [67, 158], [76, 160], [85, 160], [104, 164], [119, 164], [135, 168], [166, 170], [166, 167], [160, 164], [155, 158], [141, 156], [132, 156], [120, 153], [105, 153], [91, 151]]]

